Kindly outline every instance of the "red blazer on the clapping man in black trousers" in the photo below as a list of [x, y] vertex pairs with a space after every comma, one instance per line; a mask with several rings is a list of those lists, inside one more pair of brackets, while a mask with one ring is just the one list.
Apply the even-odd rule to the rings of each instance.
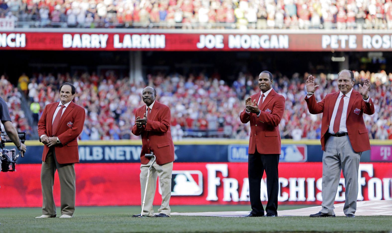
[[[261, 92], [260, 92], [261, 93]], [[250, 96], [252, 102], [256, 99], [258, 103], [260, 93]], [[241, 112], [242, 123], [250, 121], [249, 154], [257, 152], [260, 154], [280, 154], [279, 123], [285, 110], [285, 98], [274, 91], [264, 99], [259, 117], [256, 114]]]

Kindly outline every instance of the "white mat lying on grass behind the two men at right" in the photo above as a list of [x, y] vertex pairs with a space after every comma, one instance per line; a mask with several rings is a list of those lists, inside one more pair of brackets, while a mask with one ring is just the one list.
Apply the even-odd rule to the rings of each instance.
[[[343, 213], [344, 203], [335, 204], [335, 215], [345, 216]], [[250, 208], [250, 206], [249, 206]], [[279, 210], [278, 216], [309, 216], [318, 213], [321, 206], [314, 206], [296, 210]], [[200, 212], [200, 213], [171, 213], [171, 215], [186, 216], [214, 216], [214, 217], [243, 217], [250, 211], [223, 211], [223, 212]], [[392, 216], [392, 200], [367, 200], [357, 202], [357, 211], [355, 215], [391, 215]]]

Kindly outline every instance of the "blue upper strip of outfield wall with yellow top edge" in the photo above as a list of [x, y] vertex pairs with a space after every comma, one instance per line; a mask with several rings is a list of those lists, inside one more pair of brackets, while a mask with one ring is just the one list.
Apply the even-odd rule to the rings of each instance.
[[[247, 162], [247, 140], [184, 140], [174, 142], [176, 162]], [[44, 147], [27, 141], [28, 151], [18, 163], [41, 163]], [[392, 140], [371, 140], [372, 149], [363, 152], [361, 162], [392, 161]], [[80, 163], [139, 163], [141, 140], [79, 141]], [[321, 162], [319, 140], [282, 139], [279, 162]]]

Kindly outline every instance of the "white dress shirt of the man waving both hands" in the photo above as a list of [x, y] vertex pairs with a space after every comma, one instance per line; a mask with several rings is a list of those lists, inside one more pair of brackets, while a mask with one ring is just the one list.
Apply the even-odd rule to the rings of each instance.
[[[340, 125], [339, 125], [338, 134], [347, 133], [347, 125], [346, 125], [347, 108], [348, 108], [348, 101], [350, 101], [350, 97], [351, 97], [352, 90], [353, 90], [353, 89], [351, 89], [351, 90], [345, 95], [345, 98], [344, 98], [344, 102], [343, 102], [343, 112], [342, 112], [342, 116], [341, 116], [341, 119], [340, 119]], [[310, 98], [310, 96], [312, 96], [312, 95], [309, 95], [309, 94], [308, 94], [308, 95], [307, 95], [307, 98]], [[330, 134], [335, 134], [335, 132], [334, 132], [334, 122], [335, 122], [336, 113], [338, 113], [338, 107], [339, 107], [340, 99], [342, 98], [342, 96], [343, 96], [343, 93], [342, 93], [342, 92], [339, 92], [338, 99], [336, 99], [336, 103], [335, 103], [335, 107], [334, 107], [334, 112], [332, 112], [331, 121], [329, 122], [328, 132], [329, 132]], [[370, 100], [370, 96], [368, 95], [367, 100], [364, 99], [363, 101], [365, 101], [366, 103], [369, 103], [369, 100]]]

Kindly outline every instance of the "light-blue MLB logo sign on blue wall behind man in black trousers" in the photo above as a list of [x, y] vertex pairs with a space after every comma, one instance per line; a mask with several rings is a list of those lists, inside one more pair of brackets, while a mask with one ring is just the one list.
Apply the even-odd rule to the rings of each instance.
[[[228, 160], [229, 162], [248, 162], [248, 145], [229, 145]], [[282, 144], [279, 162], [306, 162], [307, 146]]]

